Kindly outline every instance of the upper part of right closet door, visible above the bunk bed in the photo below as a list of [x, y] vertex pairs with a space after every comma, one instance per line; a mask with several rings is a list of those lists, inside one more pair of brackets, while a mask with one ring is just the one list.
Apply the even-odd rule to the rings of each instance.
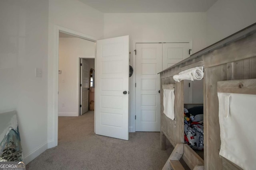
[[189, 43], [163, 43], [163, 70], [189, 56]]

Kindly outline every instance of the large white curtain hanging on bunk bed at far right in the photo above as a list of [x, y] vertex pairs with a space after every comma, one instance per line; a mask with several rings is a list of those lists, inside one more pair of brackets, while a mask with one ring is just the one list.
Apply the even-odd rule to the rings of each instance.
[[255, 169], [256, 95], [218, 93], [220, 155], [244, 170]]

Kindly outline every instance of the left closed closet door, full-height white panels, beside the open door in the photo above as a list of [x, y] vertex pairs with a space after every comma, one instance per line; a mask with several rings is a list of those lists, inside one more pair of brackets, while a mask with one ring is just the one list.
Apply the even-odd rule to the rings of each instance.
[[136, 43], [136, 131], [160, 131], [162, 44]]

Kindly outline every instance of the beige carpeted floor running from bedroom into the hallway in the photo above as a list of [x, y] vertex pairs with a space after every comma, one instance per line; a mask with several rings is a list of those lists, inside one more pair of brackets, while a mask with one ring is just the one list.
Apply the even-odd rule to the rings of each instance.
[[58, 118], [58, 146], [32, 160], [27, 170], [160, 170], [173, 147], [160, 149], [159, 132], [129, 133], [129, 141], [94, 134], [94, 112]]

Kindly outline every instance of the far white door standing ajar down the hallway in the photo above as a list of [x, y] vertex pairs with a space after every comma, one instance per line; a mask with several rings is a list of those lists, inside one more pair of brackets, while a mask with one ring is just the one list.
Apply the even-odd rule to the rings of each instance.
[[86, 59], [81, 59], [81, 95], [80, 95], [80, 115], [89, 109], [89, 63]]

